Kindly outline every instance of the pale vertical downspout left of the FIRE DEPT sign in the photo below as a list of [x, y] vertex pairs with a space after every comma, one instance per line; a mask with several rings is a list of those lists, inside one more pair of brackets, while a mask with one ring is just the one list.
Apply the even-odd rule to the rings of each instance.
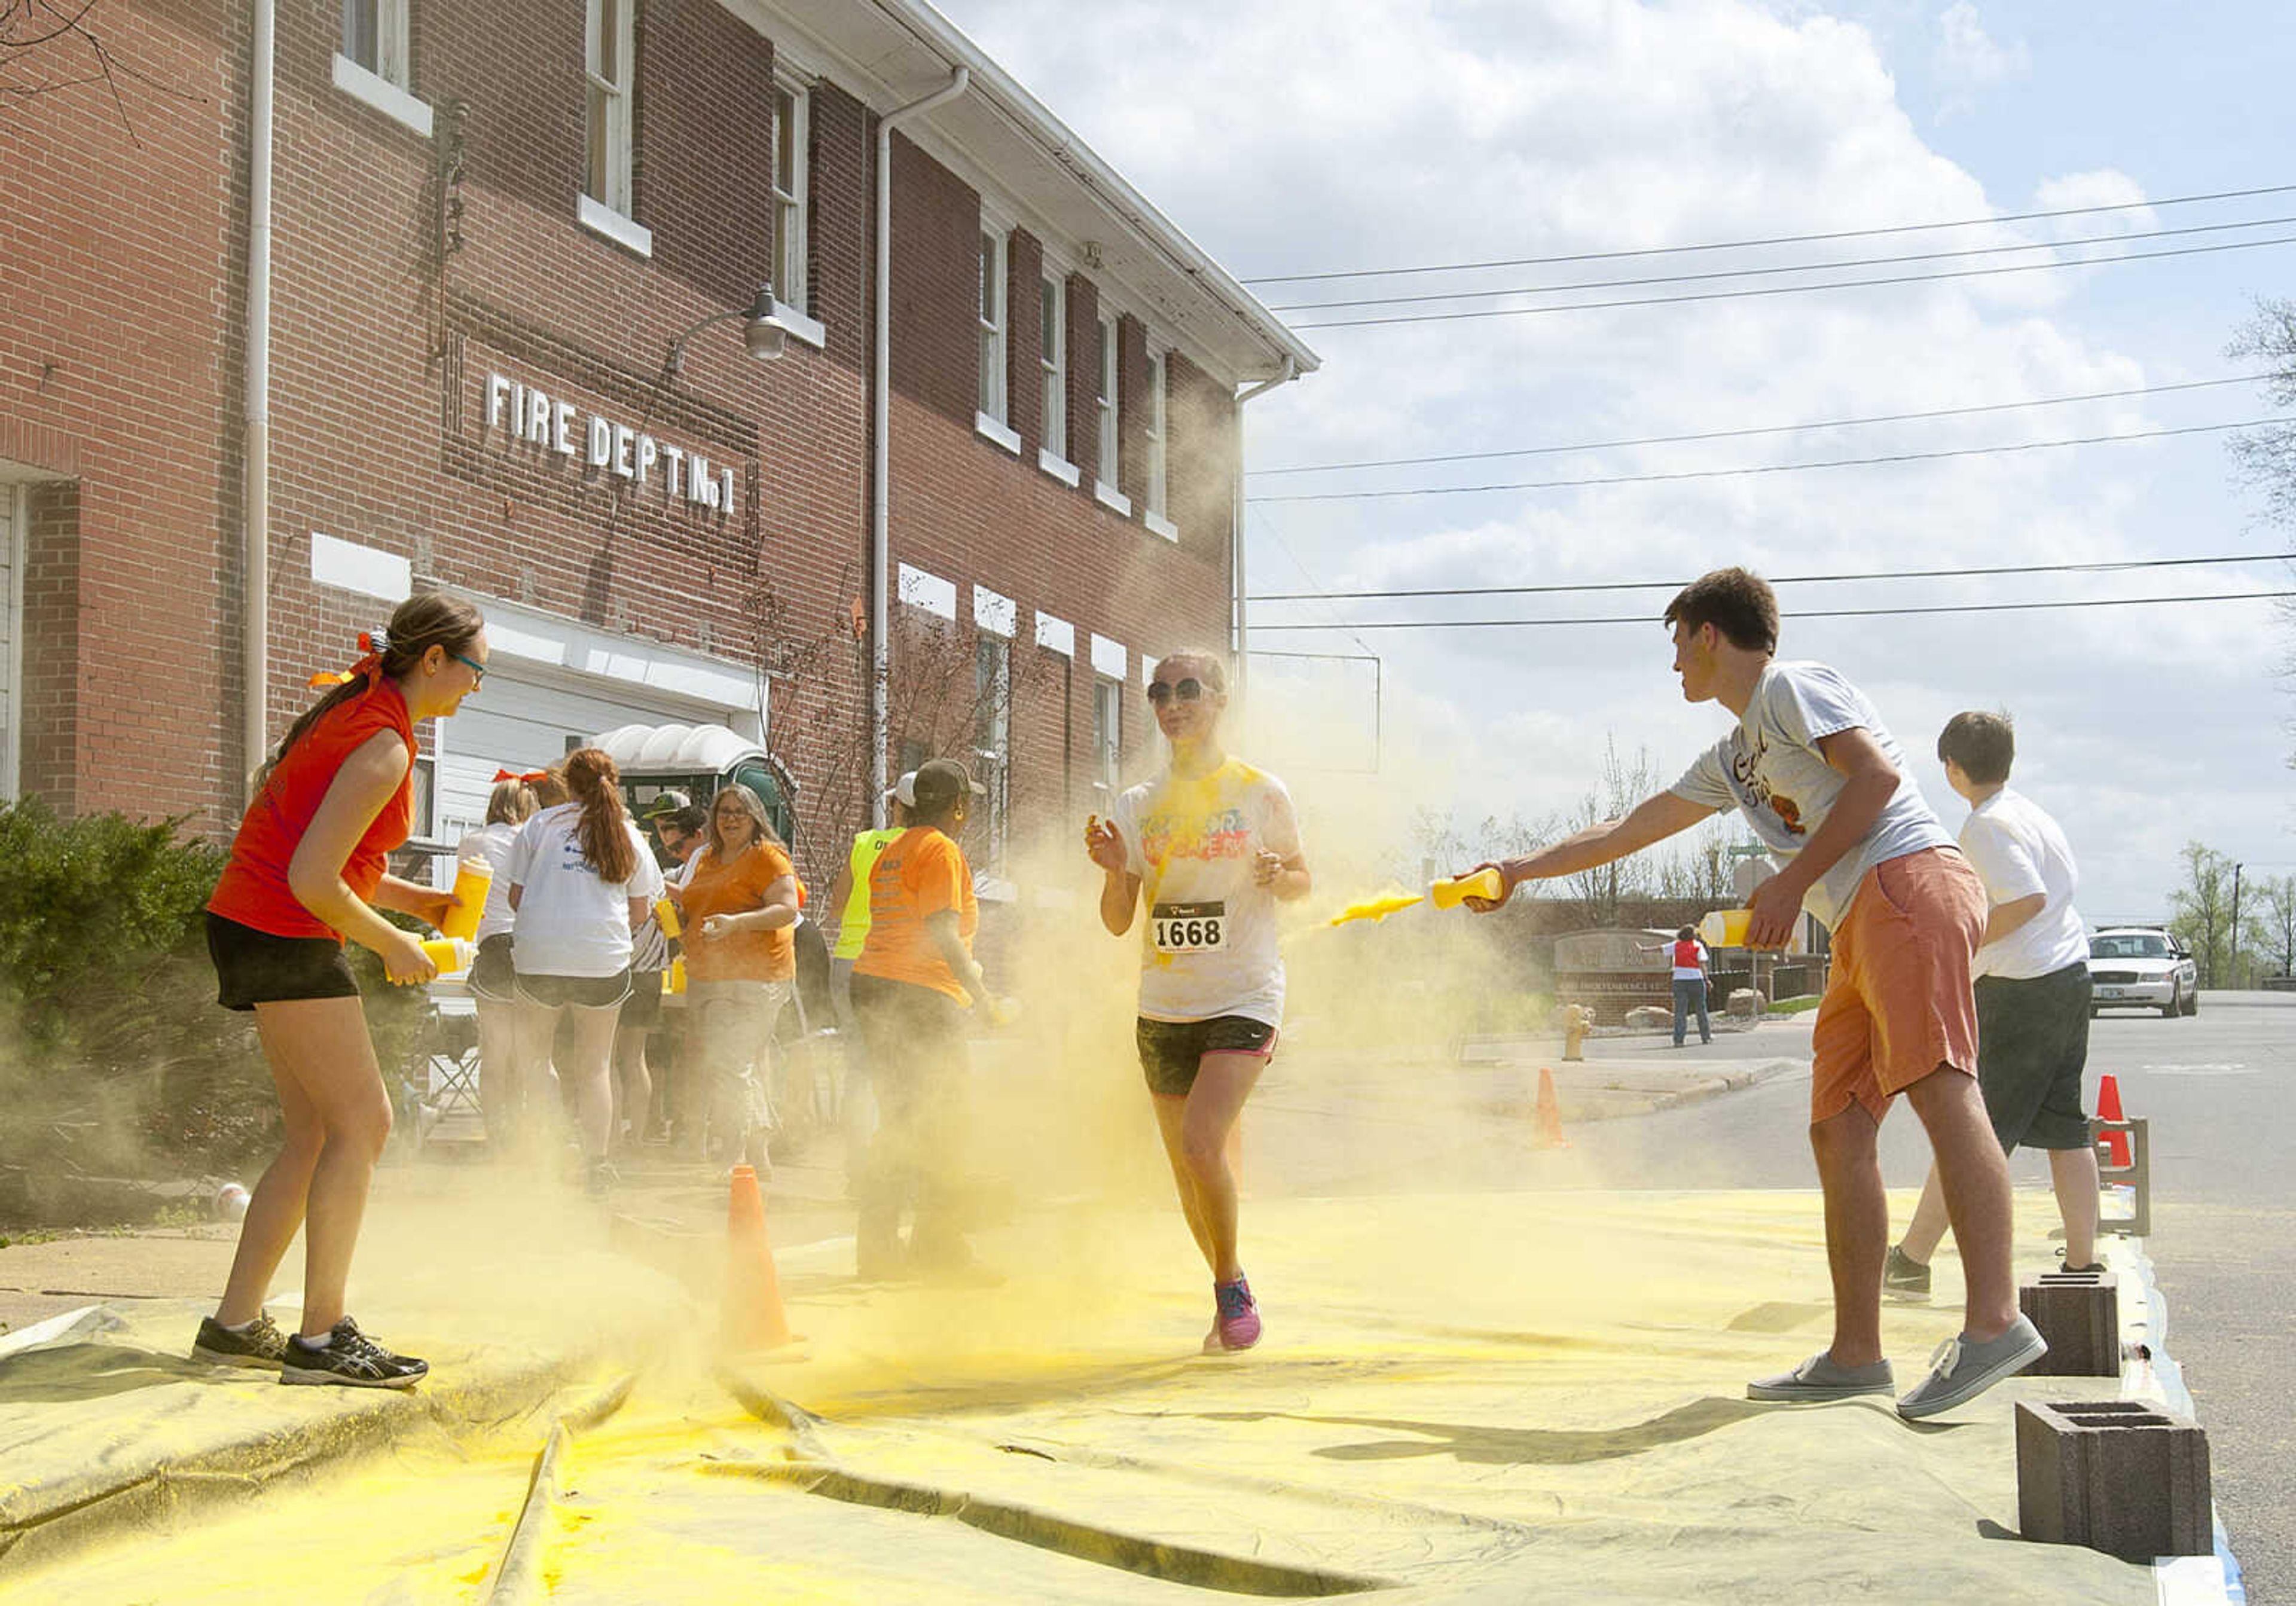
[[248, 85], [248, 402], [241, 464], [243, 528], [239, 616], [246, 747], [241, 758], [253, 797], [269, 740], [271, 689], [271, 99], [276, 0], [255, 0], [255, 51]]

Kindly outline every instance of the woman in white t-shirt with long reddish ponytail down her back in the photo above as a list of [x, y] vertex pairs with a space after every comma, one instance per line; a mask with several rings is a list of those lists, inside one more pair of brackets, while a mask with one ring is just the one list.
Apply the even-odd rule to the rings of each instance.
[[510, 843], [510, 963], [517, 972], [519, 1050], [544, 1084], [544, 1061], [560, 1018], [572, 1045], [558, 1066], [574, 1089], [585, 1186], [604, 1197], [613, 1186], [613, 1027], [629, 997], [629, 933], [661, 896], [661, 871], [622, 806], [613, 758], [579, 747], [565, 758], [569, 800], [519, 827]]

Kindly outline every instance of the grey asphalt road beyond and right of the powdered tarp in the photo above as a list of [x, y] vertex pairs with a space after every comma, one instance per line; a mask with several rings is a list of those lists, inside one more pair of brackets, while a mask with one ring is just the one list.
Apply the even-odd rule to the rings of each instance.
[[[1770, 1022], [1711, 1050], [1807, 1059], [1807, 1016]], [[1596, 1043], [1598, 1055], [1619, 1052]], [[1646, 1052], [1646, 1050], [1644, 1050]], [[1671, 1050], [1667, 1050], [1671, 1052]], [[2296, 995], [2204, 993], [2200, 1013], [2161, 1020], [2115, 1011], [2089, 1032], [2096, 1075], [2119, 1078], [2131, 1117], [2151, 1121], [2151, 1259], [2167, 1298], [2167, 1351], [2209, 1429], [2216, 1505], [2252, 1601], [2296, 1601], [2296, 1153], [2287, 1142], [2296, 1089]], [[1534, 1156], [1557, 1186], [1807, 1188], [1816, 1174], [1802, 1135], [1809, 1080], [1791, 1075], [1745, 1094], [1637, 1121], [1573, 1133], [1573, 1153]], [[1883, 1174], [1915, 1186], [1929, 1144], [1903, 1107], [1883, 1124]], [[1522, 1186], [1525, 1160], [1513, 1186]], [[2039, 1156], [2011, 1160], [2018, 1183], [2046, 1183]], [[2043, 1261], [2018, 1245], [2018, 1264]], [[2275, 1271], [2278, 1268], [2278, 1271]], [[1942, 1271], [1949, 1294], [1952, 1268]]]

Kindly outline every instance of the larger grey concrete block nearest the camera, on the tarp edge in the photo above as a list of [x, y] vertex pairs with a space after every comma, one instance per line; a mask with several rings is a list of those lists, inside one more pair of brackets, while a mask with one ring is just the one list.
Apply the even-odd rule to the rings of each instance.
[[2016, 1408], [2018, 1528], [2126, 1562], [2209, 1555], [2209, 1436], [2142, 1399]]

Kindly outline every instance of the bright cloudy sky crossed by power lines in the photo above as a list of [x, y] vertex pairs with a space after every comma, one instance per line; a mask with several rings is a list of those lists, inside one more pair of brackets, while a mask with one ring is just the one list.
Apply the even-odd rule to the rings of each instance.
[[[2296, 237], [2296, 46], [2273, 0], [941, 0], [1169, 218], [1274, 308], [1322, 370], [1249, 407], [1254, 595], [1681, 581], [2296, 549], [2236, 482], [2227, 434], [2273, 416], [2257, 384], [1727, 441], [1667, 434], [1991, 407], [2232, 379], [2259, 296], [2296, 296], [2296, 244], [1683, 306], [1304, 329], [1541, 299], [1398, 296], [1977, 250], [1853, 276]], [[1270, 283], [1451, 262], [1653, 250], [1782, 234], [1988, 223], [1733, 253], [1481, 273]], [[2282, 225], [2119, 241], [2124, 234]], [[2069, 248], [2064, 241], [2101, 239]], [[1580, 292], [1676, 296], [1809, 276]], [[1545, 296], [1545, 306], [1568, 296]], [[1825, 457], [2200, 430], [2144, 441], [1821, 471], [1474, 494], [1332, 492], [1616, 480]], [[1481, 462], [1311, 464], [1548, 448]], [[1552, 450], [1568, 448], [1568, 450]], [[1293, 501], [1277, 501], [1277, 499]], [[2202, 841], [2296, 873], [2296, 627], [2266, 600], [2078, 611], [1795, 618], [2296, 588], [2287, 563], [1782, 584], [1784, 657], [1835, 664], [1878, 705], [1940, 816], [1933, 758], [1961, 708], [2018, 726], [2016, 786], [2060, 818], [2092, 921], [2167, 912]], [[1378, 783], [1463, 823], [1568, 813], [1603, 754], [1662, 781], [1729, 724], [1685, 705], [1655, 623], [1667, 590], [1261, 602], [1254, 648], [1380, 659]], [[1628, 625], [1368, 630], [1401, 618], [1646, 616]], [[1277, 625], [1318, 625], [1311, 632]], [[1343, 630], [1350, 625], [1355, 630]], [[1339, 733], [1293, 790], [1373, 760], [1364, 664], [1256, 659], [1263, 710], [1302, 685]], [[1352, 751], [1350, 751], [1352, 747]], [[1362, 777], [1352, 777], [1359, 781]], [[1336, 783], [1327, 781], [1327, 783]]]

